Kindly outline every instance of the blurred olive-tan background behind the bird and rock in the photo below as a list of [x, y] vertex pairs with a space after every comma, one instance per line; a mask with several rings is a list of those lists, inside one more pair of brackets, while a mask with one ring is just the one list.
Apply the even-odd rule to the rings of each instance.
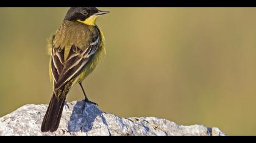
[[[102, 110], [256, 135], [256, 8], [101, 9], [107, 55], [84, 85]], [[66, 10], [0, 8], [0, 116], [49, 103], [46, 39]]]

